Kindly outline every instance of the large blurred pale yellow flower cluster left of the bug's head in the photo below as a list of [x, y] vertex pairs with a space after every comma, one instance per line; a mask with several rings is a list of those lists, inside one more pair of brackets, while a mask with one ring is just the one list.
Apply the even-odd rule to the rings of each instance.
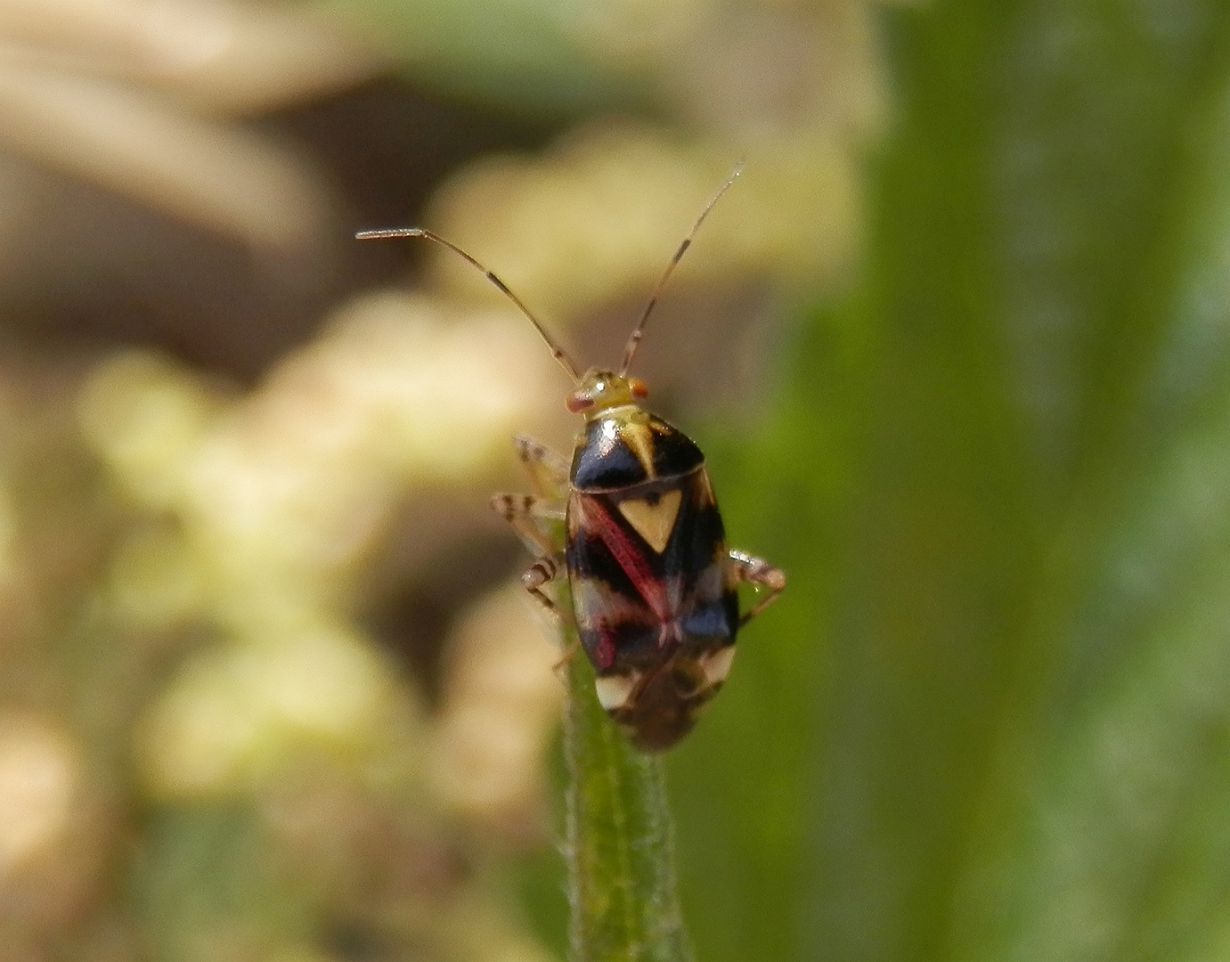
[[541, 421], [550, 364], [507, 306], [380, 294], [245, 399], [221, 403], [166, 362], [122, 356], [86, 385], [81, 418], [132, 496], [178, 518], [209, 615], [251, 629], [344, 600], [347, 573], [416, 490], [493, 476], [512, 435]]

